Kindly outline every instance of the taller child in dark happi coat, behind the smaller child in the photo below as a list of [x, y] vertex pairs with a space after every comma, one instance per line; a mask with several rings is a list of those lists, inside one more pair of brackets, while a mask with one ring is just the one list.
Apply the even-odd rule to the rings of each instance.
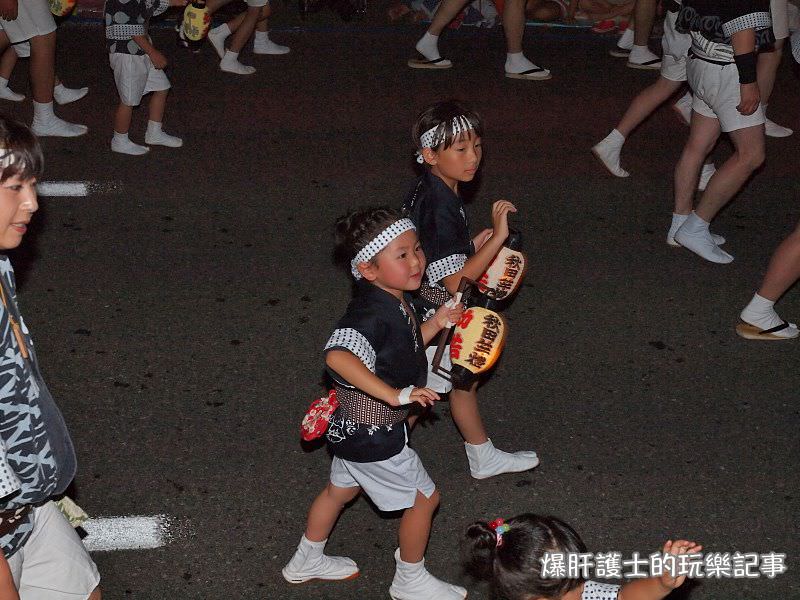
[[[462, 277], [479, 280], [508, 237], [508, 215], [517, 212], [511, 202], [492, 205], [492, 229], [470, 239], [459, 184], [472, 181], [481, 164], [480, 117], [459, 102], [439, 102], [420, 113], [412, 132], [417, 161], [425, 169], [403, 204], [403, 214], [417, 226], [428, 261], [418, 292], [421, 309], [434, 311], [449, 301]], [[428, 349], [429, 359], [433, 348]], [[452, 386], [431, 373], [430, 386], [439, 393]], [[450, 393], [450, 411], [464, 438], [470, 472], [476, 479], [533, 469], [536, 452], [503, 452], [494, 447], [481, 418], [478, 382]]]

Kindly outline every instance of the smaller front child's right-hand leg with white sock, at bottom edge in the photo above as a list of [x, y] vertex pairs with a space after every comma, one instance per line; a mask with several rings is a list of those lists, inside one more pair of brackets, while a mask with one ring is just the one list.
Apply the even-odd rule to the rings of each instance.
[[425, 548], [431, 531], [433, 513], [439, 506], [439, 492], [430, 498], [417, 492], [414, 506], [407, 508], [400, 521], [400, 548], [394, 553], [396, 569], [389, 594], [396, 600], [436, 598], [462, 600], [467, 591], [437, 579], [425, 568]]

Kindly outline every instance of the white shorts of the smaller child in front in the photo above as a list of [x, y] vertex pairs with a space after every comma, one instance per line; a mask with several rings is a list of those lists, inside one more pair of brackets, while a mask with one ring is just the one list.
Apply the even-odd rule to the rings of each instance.
[[417, 491], [430, 498], [436, 485], [422, 461], [408, 446], [399, 454], [372, 463], [357, 463], [336, 456], [331, 463], [331, 483], [360, 487], [380, 510], [390, 512], [414, 506]]

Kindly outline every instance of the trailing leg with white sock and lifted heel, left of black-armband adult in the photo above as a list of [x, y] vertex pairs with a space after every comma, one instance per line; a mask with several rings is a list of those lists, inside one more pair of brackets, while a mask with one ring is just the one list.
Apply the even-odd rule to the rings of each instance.
[[630, 175], [620, 166], [620, 153], [622, 152], [622, 146], [625, 144], [625, 139], [659, 106], [666, 102], [681, 85], [682, 83], [679, 81], [659, 77], [654, 84], [643, 89], [633, 99], [616, 128], [594, 145], [592, 154], [603, 163], [603, 166], [612, 175], [617, 177], [628, 177]]

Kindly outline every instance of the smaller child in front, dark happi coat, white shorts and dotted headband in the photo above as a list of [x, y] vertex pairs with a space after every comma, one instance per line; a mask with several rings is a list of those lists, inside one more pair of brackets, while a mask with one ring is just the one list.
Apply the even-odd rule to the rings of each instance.
[[443, 307], [420, 325], [409, 292], [422, 281], [425, 256], [409, 219], [371, 208], [340, 219], [336, 229], [336, 254], [356, 279], [356, 294], [325, 345], [339, 401], [327, 433], [334, 458], [330, 481], [311, 505], [305, 534], [283, 576], [303, 583], [358, 575], [353, 560], [323, 550], [339, 514], [363, 490], [380, 510], [404, 511], [390, 596], [461, 600], [464, 588], [425, 569], [439, 492], [408, 446], [406, 419], [413, 403], [428, 406], [439, 399], [425, 387], [425, 344], [460, 319], [463, 307]]

